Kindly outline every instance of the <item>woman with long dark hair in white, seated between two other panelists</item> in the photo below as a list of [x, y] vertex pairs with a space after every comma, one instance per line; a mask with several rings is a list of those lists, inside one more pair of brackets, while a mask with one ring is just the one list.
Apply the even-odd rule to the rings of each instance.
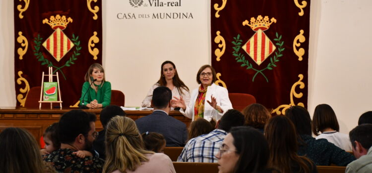
[[142, 101], [142, 107], [151, 107], [152, 92], [159, 86], [168, 87], [172, 91], [172, 96], [182, 97], [186, 104], [190, 101], [188, 87], [182, 82], [176, 70], [176, 65], [172, 61], [164, 61], [161, 65], [160, 79], [147, 92]]

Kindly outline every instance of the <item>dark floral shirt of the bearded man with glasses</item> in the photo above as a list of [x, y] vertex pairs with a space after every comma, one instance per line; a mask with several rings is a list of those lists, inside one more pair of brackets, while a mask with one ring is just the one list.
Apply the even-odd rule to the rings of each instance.
[[58, 149], [44, 156], [44, 161], [50, 163], [58, 173], [102, 173], [104, 161], [96, 156], [81, 159], [75, 150]]

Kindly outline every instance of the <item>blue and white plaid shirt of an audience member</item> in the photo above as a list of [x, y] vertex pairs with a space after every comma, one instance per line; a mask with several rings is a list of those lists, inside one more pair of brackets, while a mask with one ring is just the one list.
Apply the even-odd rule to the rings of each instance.
[[226, 134], [225, 130], [216, 129], [190, 139], [177, 162], [217, 163], [218, 159], [214, 155], [218, 153]]

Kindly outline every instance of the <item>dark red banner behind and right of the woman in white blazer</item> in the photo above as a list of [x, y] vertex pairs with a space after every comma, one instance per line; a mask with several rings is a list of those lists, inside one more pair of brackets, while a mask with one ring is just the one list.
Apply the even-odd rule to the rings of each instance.
[[[268, 16], [268, 22], [276, 19], [263, 31], [276, 49], [260, 65], [241, 48], [256, 33], [243, 22], [251, 24], [259, 15]], [[309, 23], [310, 0], [211, 0], [212, 66], [229, 92], [252, 94], [258, 103], [276, 109], [273, 113], [291, 105], [306, 107]]]

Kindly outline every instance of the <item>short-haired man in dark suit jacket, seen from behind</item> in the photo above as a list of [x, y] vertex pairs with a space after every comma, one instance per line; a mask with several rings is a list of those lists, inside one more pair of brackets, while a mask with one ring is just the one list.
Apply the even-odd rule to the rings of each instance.
[[151, 105], [154, 112], [135, 121], [141, 133], [157, 132], [163, 134], [168, 147], [185, 146], [187, 139], [186, 124], [169, 115], [172, 91], [168, 87], [157, 87], [152, 93]]

